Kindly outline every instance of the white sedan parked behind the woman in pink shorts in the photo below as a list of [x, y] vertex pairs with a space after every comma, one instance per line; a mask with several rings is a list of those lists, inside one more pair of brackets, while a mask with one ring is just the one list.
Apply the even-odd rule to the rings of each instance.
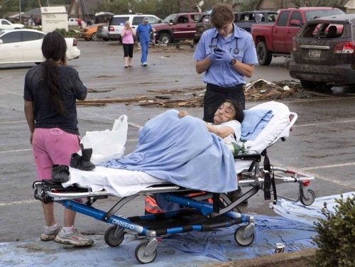
[[[40, 63], [45, 60], [42, 54], [42, 31], [21, 29], [0, 31], [0, 64]], [[75, 38], [65, 38], [67, 43], [67, 59], [79, 58]]]

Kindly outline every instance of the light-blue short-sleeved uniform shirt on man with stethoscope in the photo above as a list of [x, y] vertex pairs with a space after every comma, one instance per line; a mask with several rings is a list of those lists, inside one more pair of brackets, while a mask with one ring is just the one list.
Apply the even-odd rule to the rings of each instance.
[[[195, 60], [204, 60], [204, 58], [207, 58], [211, 53], [214, 53], [214, 47], [211, 47], [211, 45], [226, 50], [240, 62], [249, 65], [258, 63], [258, 57], [251, 34], [235, 25], [234, 33], [232, 33], [227, 40], [219, 35], [216, 28], [204, 31], [194, 53]], [[239, 53], [234, 53], [236, 52], [236, 48], [239, 49]], [[236, 72], [229, 62], [213, 62], [208, 70], [204, 72], [204, 82], [219, 87], [234, 87], [246, 83], [244, 76]]]

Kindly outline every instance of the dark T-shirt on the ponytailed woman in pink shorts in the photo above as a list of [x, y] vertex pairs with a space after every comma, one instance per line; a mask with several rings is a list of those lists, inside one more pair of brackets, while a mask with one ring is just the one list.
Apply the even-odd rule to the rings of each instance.
[[41, 82], [42, 68], [38, 65], [28, 70], [23, 93], [23, 99], [33, 102], [35, 128], [60, 128], [67, 133], [79, 134], [75, 99], [84, 99], [87, 88], [75, 69], [60, 66], [59, 80], [66, 114], [58, 114], [50, 101], [49, 90]]

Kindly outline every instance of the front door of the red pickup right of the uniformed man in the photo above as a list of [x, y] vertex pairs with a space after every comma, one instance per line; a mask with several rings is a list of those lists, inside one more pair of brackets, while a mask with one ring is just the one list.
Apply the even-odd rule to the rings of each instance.
[[278, 15], [278, 21], [273, 26], [273, 48], [275, 52], [286, 53], [285, 36], [288, 30], [288, 17], [290, 11], [282, 11]]

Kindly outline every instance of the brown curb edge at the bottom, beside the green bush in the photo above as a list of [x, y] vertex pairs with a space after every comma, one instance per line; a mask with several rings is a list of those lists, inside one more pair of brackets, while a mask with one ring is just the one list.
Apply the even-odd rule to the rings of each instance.
[[[262, 256], [258, 258], [249, 258], [241, 261], [230, 261], [228, 263], [213, 264], [208, 266], [214, 267], [282, 267], [293, 266], [292, 263], [300, 263], [300, 260], [304, 260], [310, 266], [315, 258], [315, 252], [317, 249], [305, 249], [301, 251], [293, 251], [287, 253], [279, 253], [268, 256]], [[300, 265], [295, 265], [300, 266]]]

